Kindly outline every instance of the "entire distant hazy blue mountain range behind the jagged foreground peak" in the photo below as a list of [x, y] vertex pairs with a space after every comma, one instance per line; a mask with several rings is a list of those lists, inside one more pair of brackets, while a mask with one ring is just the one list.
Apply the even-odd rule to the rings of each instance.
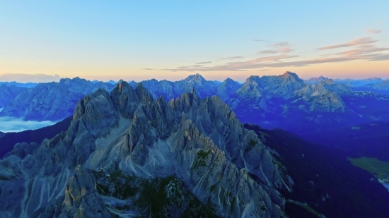
[[[160, 96], [165, 100], [175, 99], [192, 90], [198, 97], [216, 95], [231, 107], [240, 121], [251, 121], [267, 128], [284, 128], [296, 133], [330, 127], [327, 124], [352, 126], [377, 120], [387, 121], [389, 96], [383, 95], [385, 91], [376, 89], [384, 89], [387, 81], [379, 78], [366, 81], [377, 84], [374, 87], [351, 87], [323, 76], [304, 81], [291, 72], [278, 76], [250, 76], [243, 84], [230, 78], [215, 83], [199, 74], [174, 82], [153, 79], [141, 83], [154, 99]], [[81, 78], [41, 83], [19, 93], [4, 106], [0, 116], [38, 121], [61, 120], [71, 116], [76, 102], [83, 96], [100, 87], [111, 90], [114, 86]], [[134, 89], [137, 83], [131, 81], [129, 86]], [[314, 126], [306, 129], [310, 124]]]

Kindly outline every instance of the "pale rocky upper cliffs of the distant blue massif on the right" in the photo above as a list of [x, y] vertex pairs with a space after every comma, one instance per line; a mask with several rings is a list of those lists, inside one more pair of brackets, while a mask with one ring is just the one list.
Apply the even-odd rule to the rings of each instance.
[[[228, 103], [233, 109], [241, 110], [245, 106], [257, 109], [264, 116], [287, 114], [291, 109], [305, 112], [344, 112], [346, 105], [341, 95], [349, 92], [352, 92], [349, 87], [335, 84], [330, 79], [307, 85], [296, 73], [286, 72], [283, 75], [262, 78], [251, 76], [236, 92], [237, 97]], [[290, 115], [293, 116], [292, 113]]]

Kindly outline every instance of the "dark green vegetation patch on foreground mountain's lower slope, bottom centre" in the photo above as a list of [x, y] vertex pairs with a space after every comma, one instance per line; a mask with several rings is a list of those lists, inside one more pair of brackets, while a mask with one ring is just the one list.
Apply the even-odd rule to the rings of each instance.
[[130, 205], [112, 205], [115, 210], [137, 211], [140, 217], [218, 217], [213, 207], [203, 205], [173, 176], [146, 179], [120, 170], [109, 176], [95, 172], [95, 176], [100, 195], [131, 202]]

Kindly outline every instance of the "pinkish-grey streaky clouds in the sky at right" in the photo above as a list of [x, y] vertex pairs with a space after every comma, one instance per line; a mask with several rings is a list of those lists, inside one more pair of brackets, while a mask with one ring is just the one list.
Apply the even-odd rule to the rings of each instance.
[[[164, 71], [246, 71], [249, 69], [257, 69], [257, 71], [267, 71], [261, 68], [279, 68], [279, 67], [302, 67], [321, 63], [339, 63], [355, 60], [366, 61], [387, 61], [389, 54], [382, 52], [389, 51], [387, 47], [378, 47], [371, 37], [363, 37], [342, 44], [334, 44], [327, 47], [322, 47], [320, 50], [330, 50], [341, 47], [353, 47], [349, 51], [325, 54], [316, 58], [302, 59], [301, 56], [288, 54], [293, 51], [288, 42], [277, 42], [269, 44], [273, 49], [267, 49], [258, 54], [267, 54], [248, 61], [236, 61], [237, 57], [223, 58], [233, 61], [215, 66], [180, 66], [173, 69], [164, 69]], [[380, 53], [381, 52], [381, 53]], [[299, 59], [296, 59], [299, 58]]]

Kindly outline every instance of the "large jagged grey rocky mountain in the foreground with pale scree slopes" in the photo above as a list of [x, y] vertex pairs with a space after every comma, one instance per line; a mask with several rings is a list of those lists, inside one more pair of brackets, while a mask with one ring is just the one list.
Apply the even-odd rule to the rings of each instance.
[[291, 184], [219, 97], [168, 102], [121, 82], [0, 160], [0, 217], [287, 217]]

